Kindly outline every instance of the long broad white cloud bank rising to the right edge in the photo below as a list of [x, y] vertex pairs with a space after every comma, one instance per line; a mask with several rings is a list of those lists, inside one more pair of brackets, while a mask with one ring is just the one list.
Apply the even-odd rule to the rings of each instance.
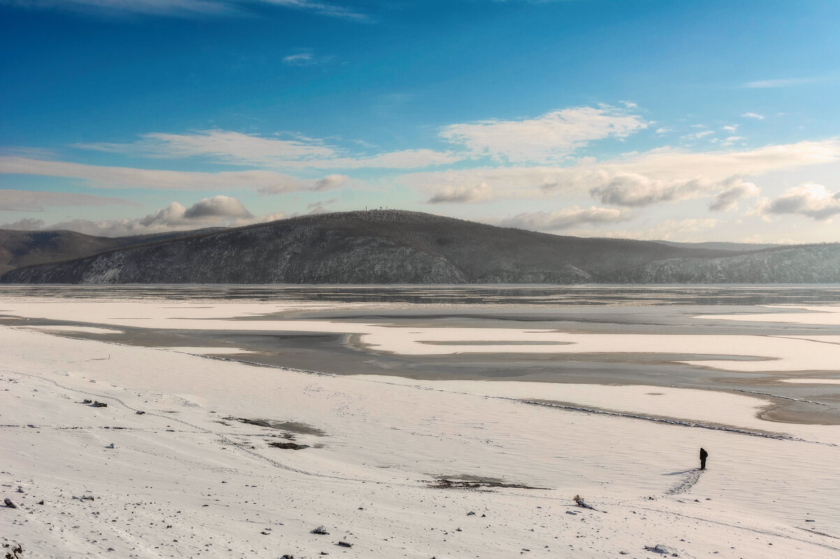
[[539, 199], [589, 192], [602, 203], [645, 206], [725, 191], [732, 187], [727, 181], [733, 177], [837, 161], [840, 141], [832, 139], [740, 151], [664, 148], [602, 162], [582, 159], [570, 167], [485, 167], [412, 173], [400, 180], [434, 201]]

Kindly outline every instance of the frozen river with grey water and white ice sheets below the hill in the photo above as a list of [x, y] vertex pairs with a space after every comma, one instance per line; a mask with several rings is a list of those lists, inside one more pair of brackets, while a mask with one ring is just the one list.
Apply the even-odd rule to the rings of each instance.
[[837, 286], [12, 286], [0, 322], [328, 374], [759, 394], [840, 423]]

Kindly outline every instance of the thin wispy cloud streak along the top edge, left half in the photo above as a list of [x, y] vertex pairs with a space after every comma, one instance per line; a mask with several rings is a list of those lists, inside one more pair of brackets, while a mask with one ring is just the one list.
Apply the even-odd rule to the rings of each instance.
[[99, 15], [126, 13], [189, 18], [242, 13], [249, 5], [273, 5], [318, 13], [331, 18], [367, 21], [364, 13], [351, 8], [310, 0], [0, 0], [18, 8], [73, 10]]

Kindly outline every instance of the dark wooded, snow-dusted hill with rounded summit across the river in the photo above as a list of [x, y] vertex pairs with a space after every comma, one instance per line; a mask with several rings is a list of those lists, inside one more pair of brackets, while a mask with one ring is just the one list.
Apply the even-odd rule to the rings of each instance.
[[372, 210], [181, 233], [3, 283], [580, 284], [840, 283], [840, 245], [732, 250], [493, 227]]

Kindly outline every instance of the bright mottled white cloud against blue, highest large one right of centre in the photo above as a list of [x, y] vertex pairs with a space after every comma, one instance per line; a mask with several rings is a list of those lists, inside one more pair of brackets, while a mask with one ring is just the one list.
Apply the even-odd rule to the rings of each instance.
[[592, 141], [626, 138], [647, 127], [648, 123], [638, 115], [602, 105], [568, 108], [526, 120], [450, 124], [440, 136], [474, 156], [547, 162], [564, 159]]

